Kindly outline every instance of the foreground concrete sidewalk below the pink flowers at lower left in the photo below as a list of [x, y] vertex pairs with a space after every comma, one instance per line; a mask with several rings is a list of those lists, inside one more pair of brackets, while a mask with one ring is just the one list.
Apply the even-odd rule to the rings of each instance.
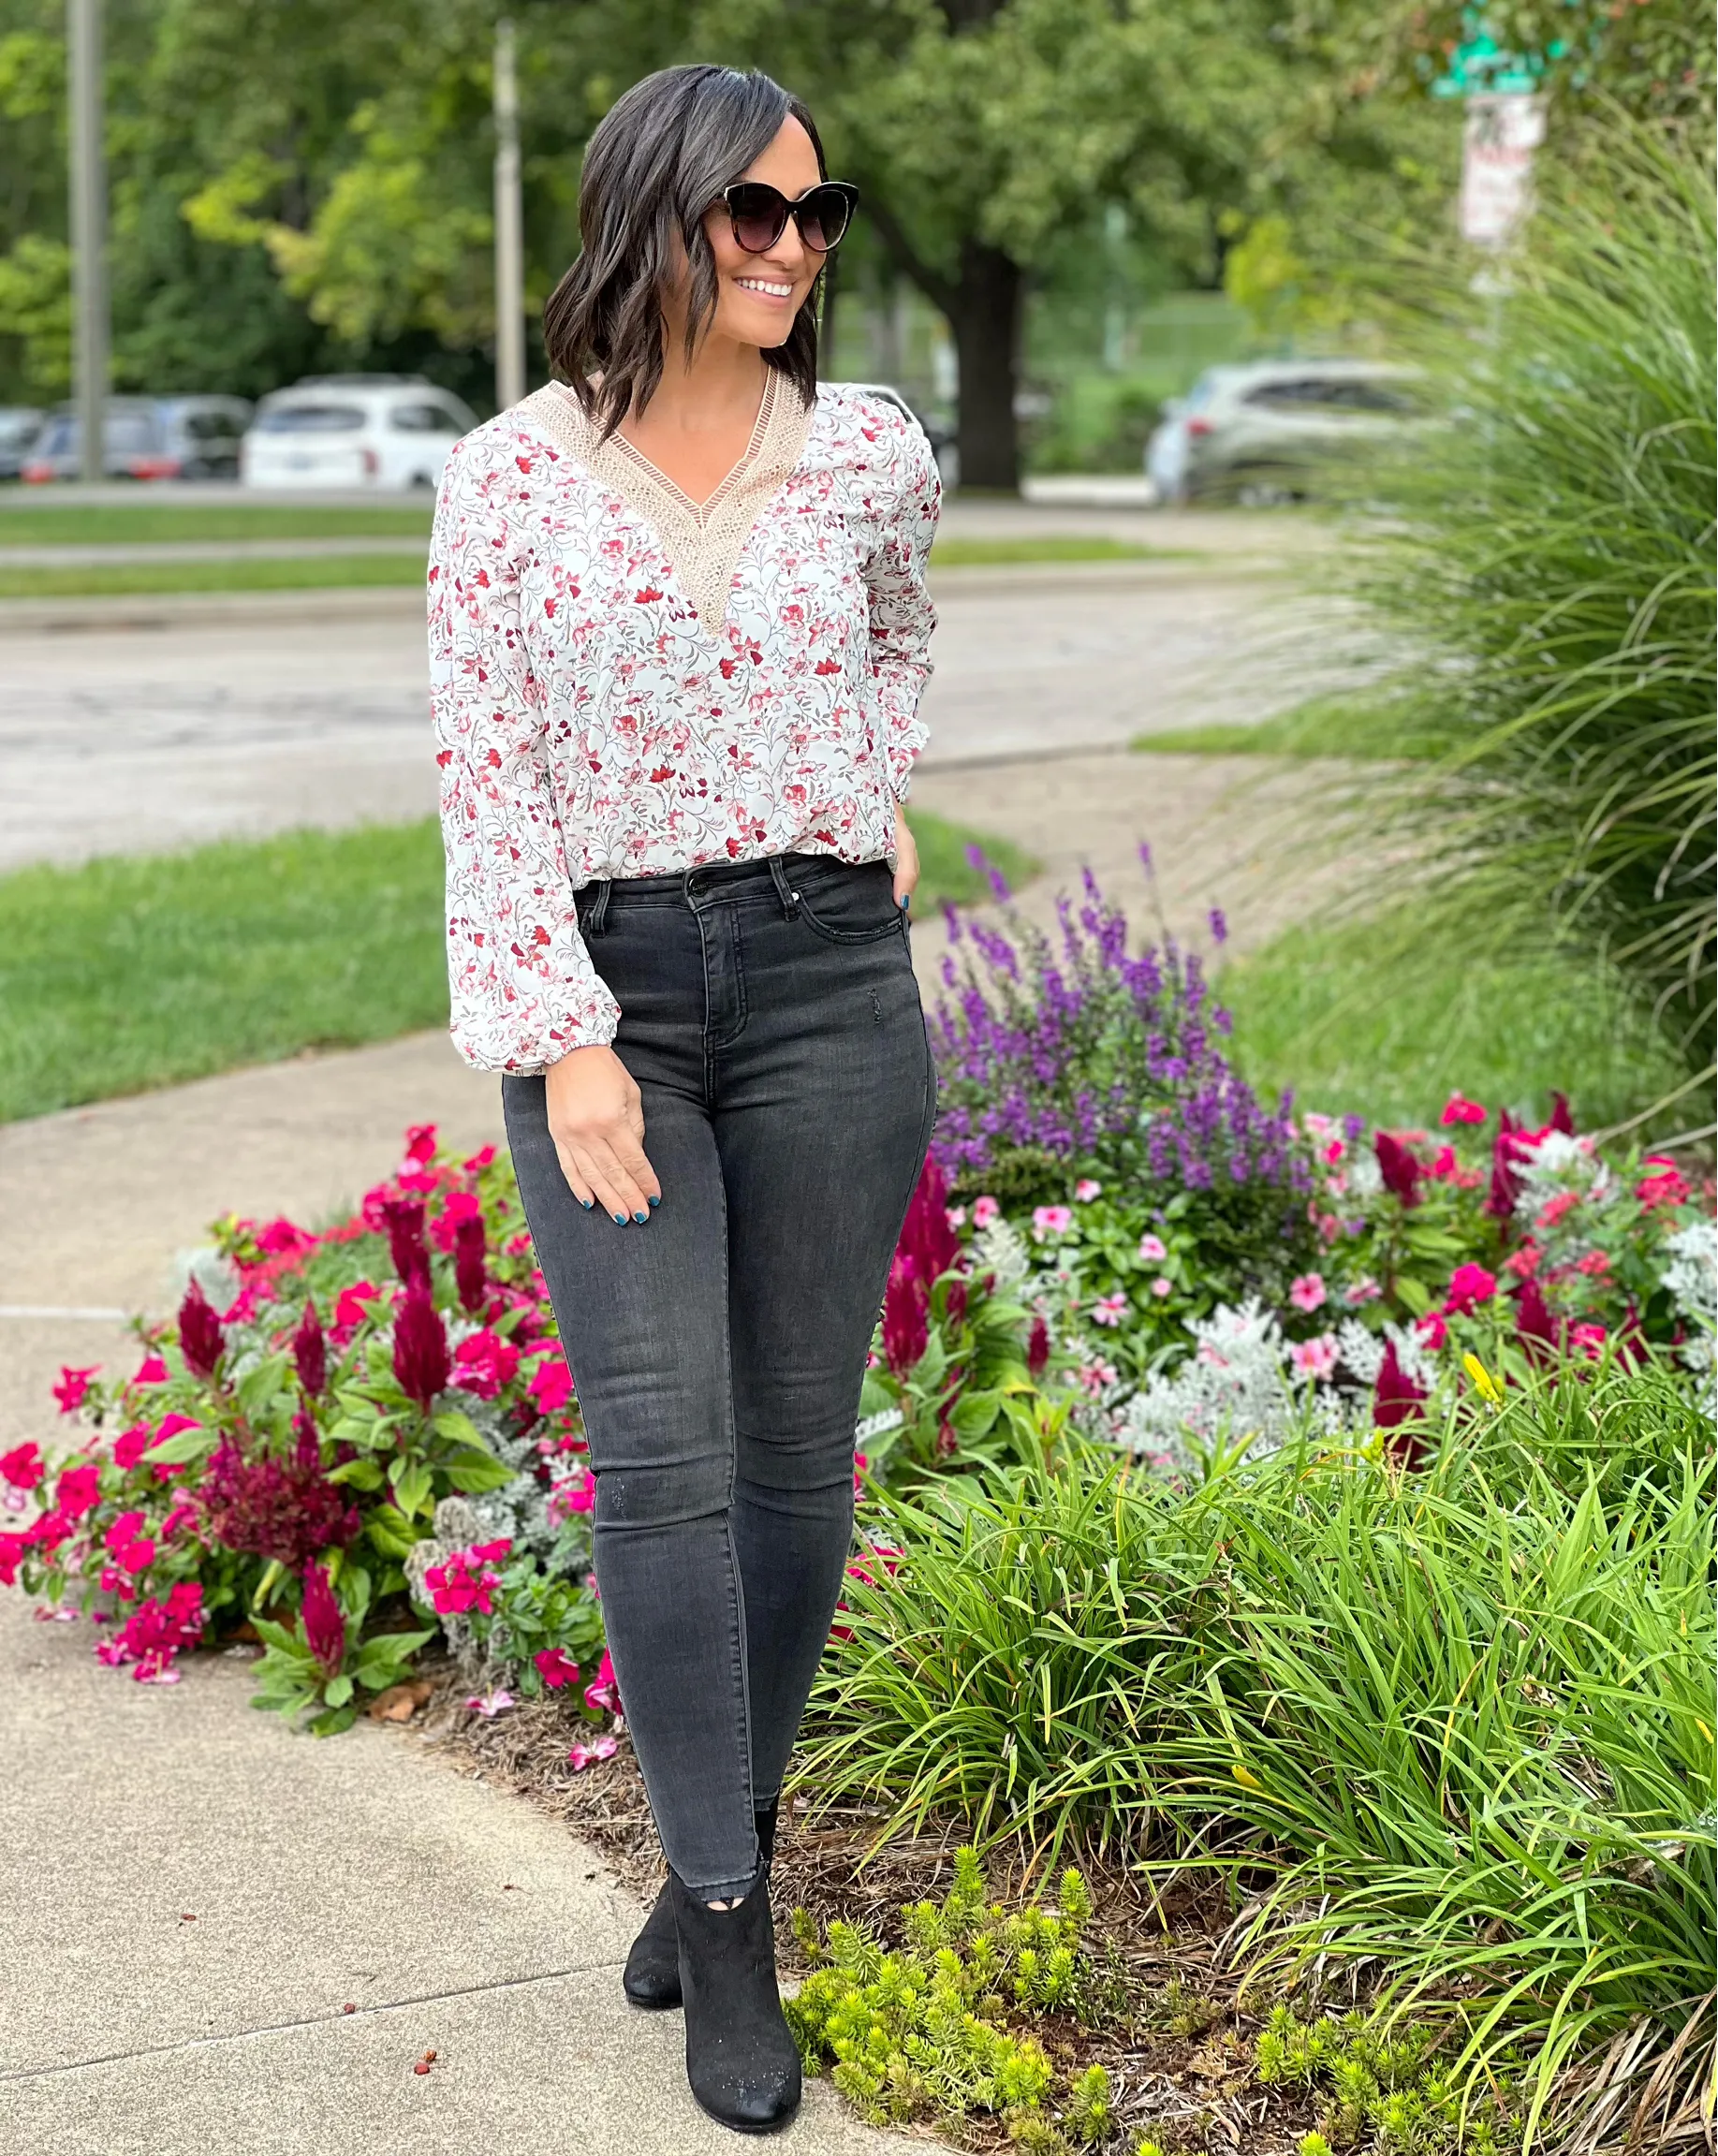
[[[640, 1908], [519, 1798], [410, 1733], [250, 1714], [0, 1593], [6, 2156], [705, 2156], [679, 2014], [638, 2014]], [[435, 2053], [429, 2074], [412, 2065]], [[776, 2143], [884, 2156], [813, 2083]]]

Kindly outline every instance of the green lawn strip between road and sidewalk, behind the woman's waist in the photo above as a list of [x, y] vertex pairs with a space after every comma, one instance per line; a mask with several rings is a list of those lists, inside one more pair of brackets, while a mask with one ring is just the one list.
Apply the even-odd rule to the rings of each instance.
[[[914, 815], [918, 910], [974, 832]], [[1013, 877], [1033, 865], [983, 839]], [[433, 821], [0, 877], [0, 1121], [446, 1024]]]

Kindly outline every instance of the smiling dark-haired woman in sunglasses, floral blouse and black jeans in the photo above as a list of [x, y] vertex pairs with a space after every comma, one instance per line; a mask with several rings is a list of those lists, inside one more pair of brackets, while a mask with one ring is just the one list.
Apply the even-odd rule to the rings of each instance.
[[627, 91], [545, 310], [563, 379], [455, 448], [429, 569], [453, 1035], [507, 1074], [670, 1867], [625, 1990], [683, 2001], [694, 2096], [752, 2132], [800, 2100], [776, 1800], [936, 1108], [901, 802], [938, 476], [817, 388], [854, 201], [765, 75]]

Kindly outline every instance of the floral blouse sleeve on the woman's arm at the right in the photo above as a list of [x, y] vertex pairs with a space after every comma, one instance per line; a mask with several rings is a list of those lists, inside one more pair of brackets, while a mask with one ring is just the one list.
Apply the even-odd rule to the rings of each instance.
[[888, 783], [897, 800], [908, 798], [912, 765], [925, 746], [918, 699], [931, 677], [931, 630], [936, 608], [927, 584], [927, 563], [942, 509], [942, 479], [923, 427], [892, 420], [879, 442], [886, 448], [871, 502], [873, 545], [864, 563], [871, 597], [871, 681], [877, 699]]

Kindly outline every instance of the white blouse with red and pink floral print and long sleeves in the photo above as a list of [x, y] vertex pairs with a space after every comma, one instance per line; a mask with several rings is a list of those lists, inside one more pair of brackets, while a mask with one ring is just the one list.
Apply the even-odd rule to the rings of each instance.
[[429, 677], [468, 1063], [614, 1037], [573, 910], [593, 877], [892, 852], [938, 505], [912, 420], [854, 388], [806, 410], [776, 373], [703, 505], [558, 384], [453, 448]]

